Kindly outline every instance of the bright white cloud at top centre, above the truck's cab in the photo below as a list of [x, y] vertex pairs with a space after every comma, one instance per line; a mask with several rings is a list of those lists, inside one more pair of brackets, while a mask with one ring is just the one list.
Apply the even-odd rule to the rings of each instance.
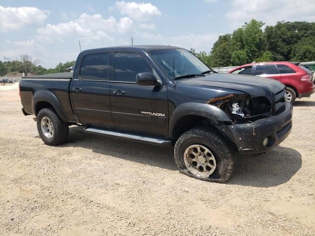
[[116, 1], [116, 6], [120, 10], [121, 14], [127, 15], [138, 21], [145, 21], [153, 16], [159, 16], [162, 14], [160, 10], [158, 10], [158, 7], [152, 5], [151, 3]]

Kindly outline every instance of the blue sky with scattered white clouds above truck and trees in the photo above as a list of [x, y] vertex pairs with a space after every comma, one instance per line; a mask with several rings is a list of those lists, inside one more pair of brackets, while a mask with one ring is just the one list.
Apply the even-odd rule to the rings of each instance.
[[315, 22], [314, 0], [0, 0], [0, 60], [29, 54], [44, 67], [82, 50], [166, 44], [209, 52], [252, 18]]

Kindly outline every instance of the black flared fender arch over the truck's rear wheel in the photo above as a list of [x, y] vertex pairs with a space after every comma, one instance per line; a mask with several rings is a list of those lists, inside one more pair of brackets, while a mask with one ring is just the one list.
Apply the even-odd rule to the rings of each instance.
[[56, 94], [54, 94], [52, 91], [49, 90], [44, 90], [44, 91], [38, 91], [35, 92], [33, 95], [33, 114], [37, 116], [36, 114], [36, 104], [38, 102], [48, 102], [50, 103], [53, 108], [56, 110], [57, 114], [63, 121], [67, 121], [66, 117], [64, 116], [63, 113], [63, 108], [61, 106], [60, 101], [58, 100]]

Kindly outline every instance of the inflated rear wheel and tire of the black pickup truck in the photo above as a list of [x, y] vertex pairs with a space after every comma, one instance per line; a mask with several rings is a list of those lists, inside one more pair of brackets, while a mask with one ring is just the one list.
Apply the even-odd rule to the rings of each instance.
[[49, 146], [64, 143], [69, 134], [69, 126], [63, 122], [53, 108], [44, 108], [37, 115], [37, 130], [40, 138]]

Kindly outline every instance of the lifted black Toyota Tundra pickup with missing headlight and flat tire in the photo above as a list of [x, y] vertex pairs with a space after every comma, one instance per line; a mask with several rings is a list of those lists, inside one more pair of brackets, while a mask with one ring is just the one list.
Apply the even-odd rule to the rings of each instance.
[[[172, 46], [86, 50], [73, 72], [24, 77], [24, 115], [47, 145], [68, 126], [92, 134], [174, 147], [182, 173], [225, 182], [237, 154], [279, 145], [292, 127], [285, 86], [272, 79], [219, 74]], [[106, 143], [104, 143], [106, 145]]]

